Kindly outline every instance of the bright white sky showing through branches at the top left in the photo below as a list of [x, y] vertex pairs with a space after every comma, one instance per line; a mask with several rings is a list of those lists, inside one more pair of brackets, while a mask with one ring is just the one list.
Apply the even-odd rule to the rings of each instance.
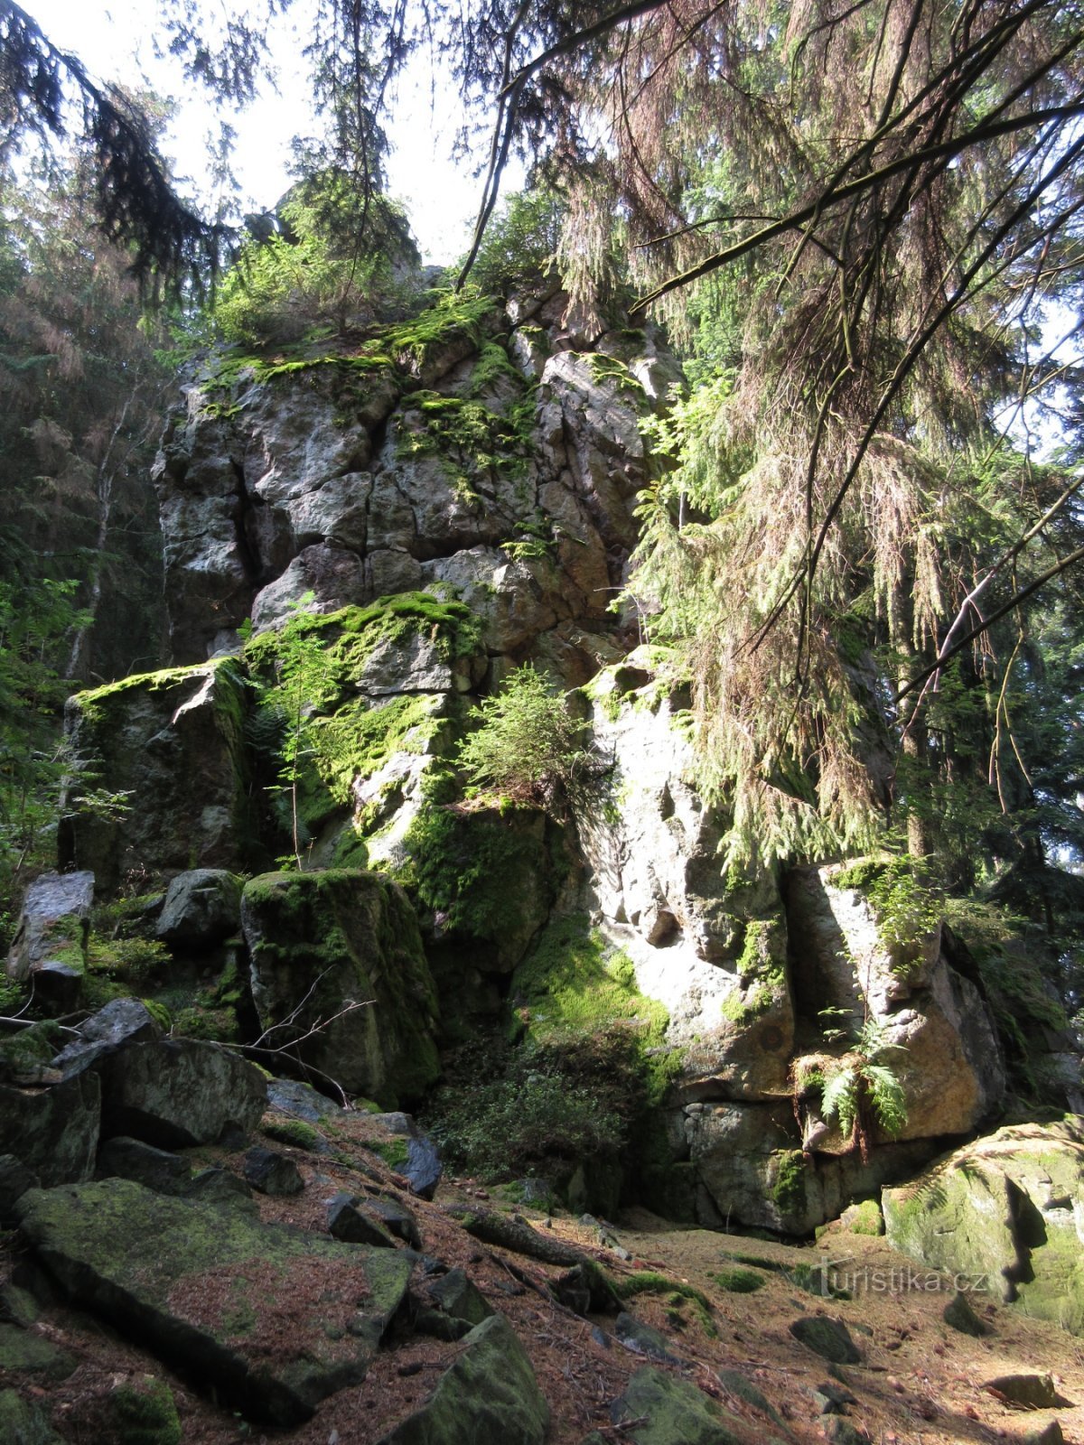
[[[98, 79], [150, 85], [158, 94], [181, 101], [163, 149], [176, 172], [191, 178], [201, 201], [210, 204], [205, 155], [208, 134], [217, 134], [217, 120], [208, 97], [194, 94], [179, 66], [155, 56], [156, 0], [23, 0], [23, 4], [53, 45], [78, 55]], [[314, 129], [301, 74], [305, 9], [299, 3], [293, 17], [279, 17], [269, 26], [280, 94], [259, 100], [240, 116], [225, 116], [238, 136], [233, 165], [244, 211], [275, 205], [291, 184], [292, 136]], [[415, 84], [400, 95], [389, 127], [395, 144], [389, 189], [406, 204], [425, 259], [444, 264], [467, 249], [480, 182], [451, 162], [460, 124], [457, 97], [441, 94], [431, 110], [428, 91], [421, 94], [423, 85], [423, 81]], [[522, 184], [519, 172], [512, 172], [509, 182]]]

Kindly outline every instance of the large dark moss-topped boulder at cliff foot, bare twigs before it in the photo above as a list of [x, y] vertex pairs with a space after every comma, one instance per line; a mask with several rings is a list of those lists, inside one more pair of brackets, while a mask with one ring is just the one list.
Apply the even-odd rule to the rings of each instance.
[[395, 1108], [436, 1079], [436, 996], [403, 890], [377, 873], [267, 873], [246, 884], [251, 988], [272, 1040], [350, 1094]]

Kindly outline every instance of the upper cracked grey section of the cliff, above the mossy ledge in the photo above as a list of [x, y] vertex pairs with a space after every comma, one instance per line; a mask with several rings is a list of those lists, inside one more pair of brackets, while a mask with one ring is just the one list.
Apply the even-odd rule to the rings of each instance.
[[[645, 332], [551, 355], [565, 302], [461, 303], [357, 358], [191, 383], [156, 464], [176, 659], [305, 592], [334, 611], [457, 588], [494, 656], [603, 623], [648, 478], [639, 418], [679, 373]], [[572, 681], [594, 672], [591, 643], [555, 643]]]

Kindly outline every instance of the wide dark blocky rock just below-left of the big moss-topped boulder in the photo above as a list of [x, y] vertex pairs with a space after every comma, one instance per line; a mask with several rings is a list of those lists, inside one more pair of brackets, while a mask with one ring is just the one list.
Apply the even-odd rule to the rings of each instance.
[[136, 1043], [103, 1069], [103, 1134], [130, 1134], [160, 1149], [212, 1144], [227, 1129], [250, 1133], [267, 1107], [254, 1064], [217, 1043]]

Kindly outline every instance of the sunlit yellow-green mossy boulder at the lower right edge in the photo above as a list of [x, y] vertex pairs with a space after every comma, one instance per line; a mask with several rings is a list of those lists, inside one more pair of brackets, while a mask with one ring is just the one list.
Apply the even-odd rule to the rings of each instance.
[[1084, 1335], [1084, 1124], [1013, 1124], [885, 1189], [889, 1244]]

